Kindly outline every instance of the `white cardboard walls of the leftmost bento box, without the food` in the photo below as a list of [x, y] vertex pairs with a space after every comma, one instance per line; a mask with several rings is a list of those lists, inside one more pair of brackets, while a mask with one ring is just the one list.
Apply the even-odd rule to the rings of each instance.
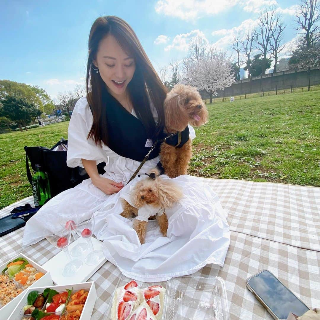
[[[38, 271], [41, 271], [44, 273], [44, 276], [42, 276], [39, 280], [35, 281], [35, 283], [31, 284], [28, 288], [34, 288], [36, 287], [40, 287], [40, 286], [50, 286], [53, 284], [52, 282], [52, 278], [50, 275], [50, 272], [48, 272], [45, 268], [41, 267], [39, 264], [37, 264], [35, 261], [31, 260], [29, 257], [25, 256], [24, 254], [20, 253], [17, 254], [13, 257], [11, 257], [8, 261], [6, 261], [3, 265], [0, 266], [0, 272], [7, 266], [7, 264], [9, 262], [11, 262], [14, 259], [17, 258], [24, 258], [26, 260], [28, 260], [28, 262], [33, 265], [35, 268], [37, 268]], [[0, 319], [4, 320], [7, 319], [9, 317], [9, 315], [11, 314], [12, 310], [14, 309], [14, 307], [17, 305], [17, 303], [22, 299], [24, 292], [26, 292], [25, 289], [23, 292], [21, 292], [17, 297], [15, 297], [12, 301], [10, 301], [9, 303], [7, 303], [4, 307], [2, 307], [0, 309]]]

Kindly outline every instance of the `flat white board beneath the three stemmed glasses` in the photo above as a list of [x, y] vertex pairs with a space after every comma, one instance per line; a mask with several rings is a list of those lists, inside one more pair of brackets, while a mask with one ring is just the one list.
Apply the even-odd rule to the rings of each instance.
[[[71, 249], [78, 244], [79, 242], [86, 242], [83, 238], [79, 238], [77, 241], [71, 243], [68, 248]], [[102, 241], [99, 241], [92, 237], [92, 245], [94, 250], [101, 250], [102, 249]], [[65, 252], [61, 251], [57, 255], [55, 255], [52, 259], [47, 261], [43, 267], [46, 270], [50, 271], [52, 281], [54, 284], [57, 285], [66, 285], [66, 284], [73, 284], [73, 283], [80, 283], [87, 281], [106, 261], [103, 257], [96, 265], [94, 266], [87, 266], [84, 262], [85, 257], [87, 254], [90, 253], [90, 249], [88, 249], [84, 254], [80, 257], [71, 257], [71, 259], [79, 259], [82, 260], [83, 266], [81, 269], [72, 277], [64, 277], [62, 276], [62, 269], [68, 263], [67, 256]]]

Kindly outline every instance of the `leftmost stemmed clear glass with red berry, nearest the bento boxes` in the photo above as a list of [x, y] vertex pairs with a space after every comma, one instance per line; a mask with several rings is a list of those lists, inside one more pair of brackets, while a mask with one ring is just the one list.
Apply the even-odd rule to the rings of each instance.
[[66, 256], [69, 260], [69, 262], [64, 266], [62, 269], [62, 276], [64, 277], [71, 277], [74, 276], [82, 267], [83, 263], [81, 260], [72, 260], [69, 250], [68, 250], [68, 245], [70, 243], [70, 238], [71, 238], [71, 226], [70, 224], [58, 231], [55, 234], [52, 234], [50, 236], [46, 236], [46, 239], [56, 248], [63, 250], [66, 253]]

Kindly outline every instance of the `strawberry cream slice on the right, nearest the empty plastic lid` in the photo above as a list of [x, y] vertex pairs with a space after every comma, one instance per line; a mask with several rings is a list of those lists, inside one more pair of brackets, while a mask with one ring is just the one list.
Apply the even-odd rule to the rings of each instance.
[[142, 297], [140, 299], [145, 300], [155, 315], [156, 320], [161, 320], [164, 310], [164, 287], [161, 285], [153, 285], [146, 289], [142, 289], [141, 292]]

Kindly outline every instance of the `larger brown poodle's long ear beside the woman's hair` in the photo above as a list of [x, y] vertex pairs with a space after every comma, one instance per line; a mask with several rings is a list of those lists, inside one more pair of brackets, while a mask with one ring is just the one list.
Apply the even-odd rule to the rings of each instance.
[[188, 125], [188, 117], [180, 101], [180, 95], [169, 92], [164, 100], [165, 125], [168, 130], [183, 131]]

